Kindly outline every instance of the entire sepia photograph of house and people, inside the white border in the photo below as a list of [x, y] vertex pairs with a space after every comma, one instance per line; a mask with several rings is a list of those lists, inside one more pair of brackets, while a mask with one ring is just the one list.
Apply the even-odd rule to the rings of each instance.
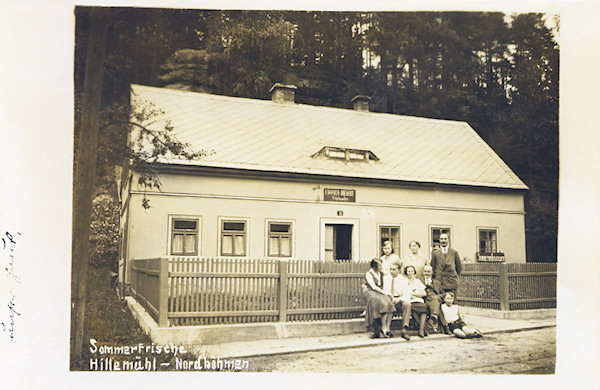
[[72, 370], [554, 373], [559, 15], [75, 18]]

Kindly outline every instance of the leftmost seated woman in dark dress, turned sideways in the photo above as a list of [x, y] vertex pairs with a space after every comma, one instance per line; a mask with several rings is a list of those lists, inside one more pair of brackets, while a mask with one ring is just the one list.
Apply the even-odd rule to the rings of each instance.
[[392, 337], [390, 324], [396, 307], [392, 299], [383, 290], [383, 274], [380, 271], [381, 260], [371, 260], [371, 268], [365, 274], [365, 298], [367, 299], [366, 321], [373, 327], [372, 338]]

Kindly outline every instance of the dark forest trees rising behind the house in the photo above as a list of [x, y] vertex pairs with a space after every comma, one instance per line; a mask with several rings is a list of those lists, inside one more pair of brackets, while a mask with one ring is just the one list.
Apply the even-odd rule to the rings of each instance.
[[[104, 106], [120, 105], [121, 120], [129, 120], [130, 82], [259, 99], [283, 82], [298, 87], [298, 103], [349, 107], [365, 94], [372, 111], [467, 121], [530, 187], [528, 257], [556, 259], [559, 51], [547, 15], [111, 13]], [[98, 169], [108, 169], [99, 177], [122, 163], [123, 154], [109, 149], [126, 134], [126, 127], [101, 132], [106, 158]]]

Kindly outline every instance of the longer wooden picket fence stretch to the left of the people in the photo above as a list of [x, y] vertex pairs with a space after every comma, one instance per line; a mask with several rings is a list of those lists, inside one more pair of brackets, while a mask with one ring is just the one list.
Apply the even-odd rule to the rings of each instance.
[[159, 326], [356, 318], [368, 268], [349, 261], [140, 259], [133, 261], [131, 291]]

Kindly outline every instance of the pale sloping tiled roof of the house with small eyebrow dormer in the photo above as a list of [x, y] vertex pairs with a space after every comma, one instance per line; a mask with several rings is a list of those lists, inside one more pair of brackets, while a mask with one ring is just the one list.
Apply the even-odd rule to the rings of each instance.
[[[466, 122], [140, 85], [132, 91], [132, 104], [162, 110], [180, 141], [215, 152], [171, 164], [527, 189]], [[378, 160], [323, 157], [326, 146]]]

